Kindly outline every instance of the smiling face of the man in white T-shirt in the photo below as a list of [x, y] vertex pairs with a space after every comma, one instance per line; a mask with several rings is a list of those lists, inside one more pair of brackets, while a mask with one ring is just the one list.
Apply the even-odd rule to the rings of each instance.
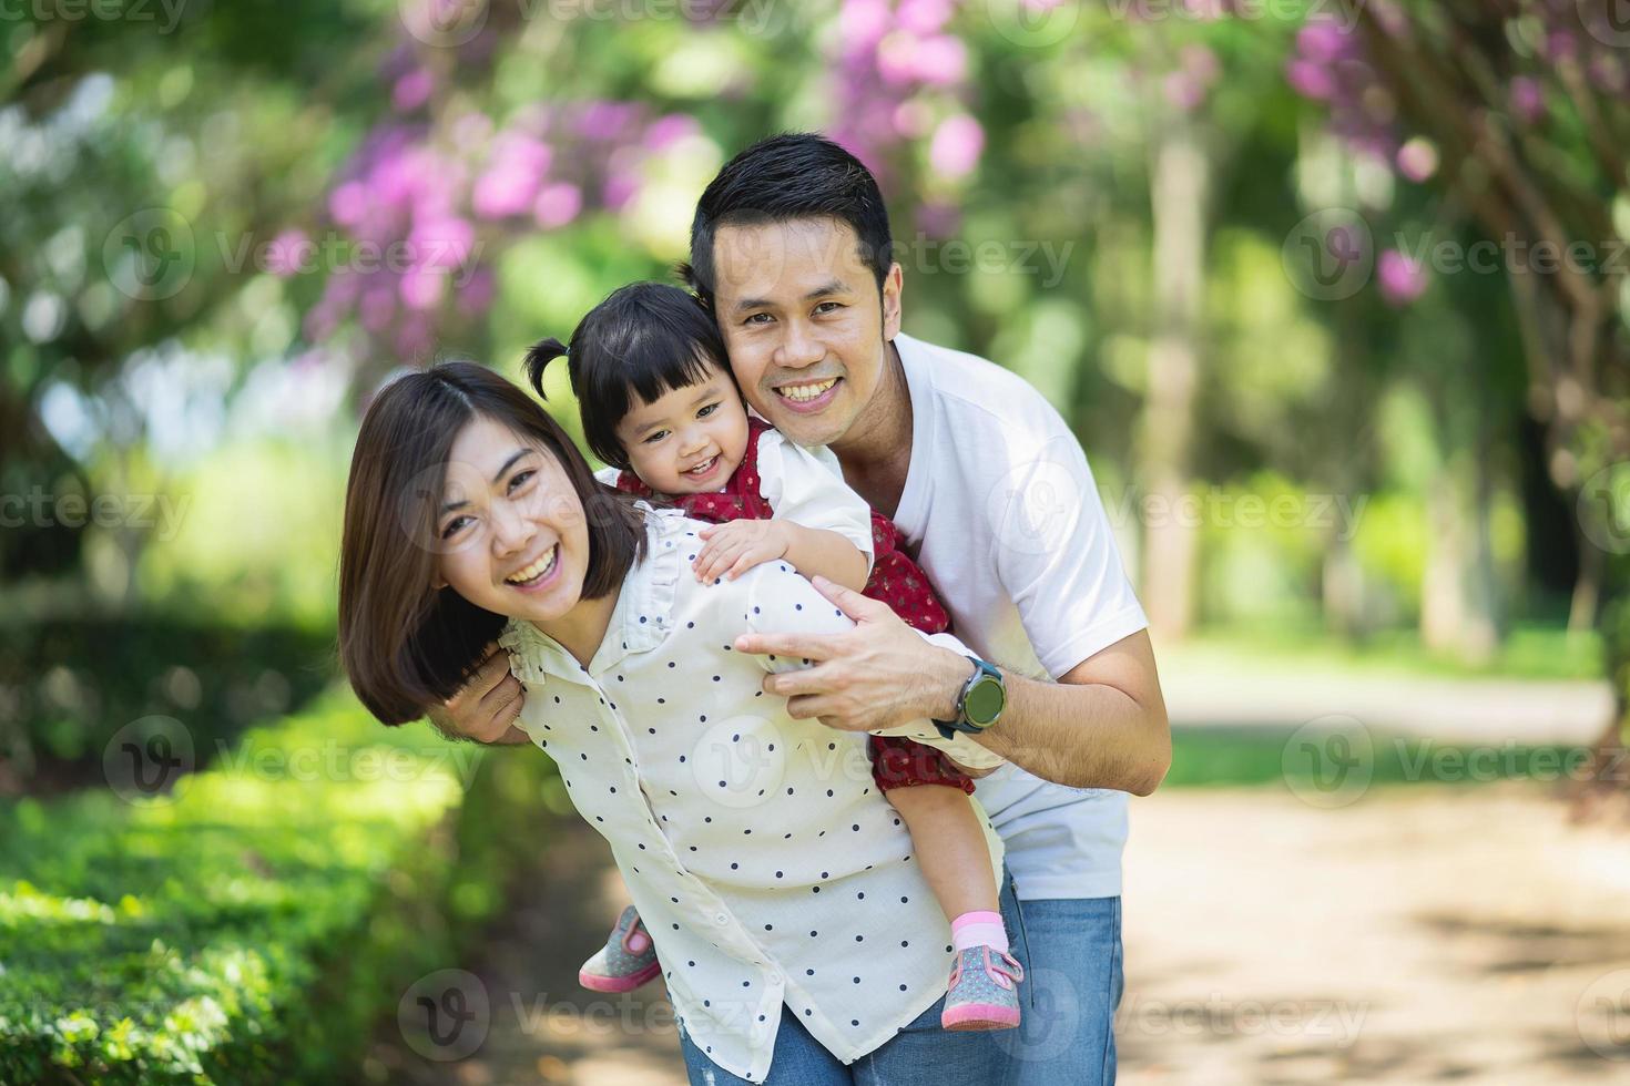
[[843, 440], [900, 332], [900, 267], [879, 298], [856, 233], [836, 218], [720, 226], [714, 313], [748, 402], [799, 444]]

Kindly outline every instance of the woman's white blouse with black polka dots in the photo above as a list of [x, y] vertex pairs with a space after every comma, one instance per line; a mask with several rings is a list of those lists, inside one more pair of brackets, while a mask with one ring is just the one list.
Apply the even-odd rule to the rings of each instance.
[[[950, 930], [872, 782], [866, 734], [787, 716], [761, 690], [764, 672], [807, 661], [745, 656], [732, 642], [852, 624], [784, 562], [696, 583], [704, 524], [642, 508], [650, 552], [587, 668], [530, 622], [504, 630], [526, 687], [520, 726], [611, 843], [691, 1040], [763, 1081], [786, 1003], [849, 1063], [944, 995]], [[887, 734], [963, 765], [1001, 764], [929, 721]], [[999, 873], [1001, 839], [975, 809]]]

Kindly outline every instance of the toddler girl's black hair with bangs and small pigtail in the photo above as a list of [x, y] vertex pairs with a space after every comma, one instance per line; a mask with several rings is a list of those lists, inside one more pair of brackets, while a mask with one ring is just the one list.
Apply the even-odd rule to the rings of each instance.
[[698, 300], [667, 283], [629, 283], [588, 311], [572, 345], [540, 340], [526, 352], [526, 378], [543, 396], [543, 373], [566, 355], [584, 440], [601, 461], [628, 471], [616, 428], [636, 405], [673, 389], [701, 384], [709, 366], [725, 373], [724, 337]]

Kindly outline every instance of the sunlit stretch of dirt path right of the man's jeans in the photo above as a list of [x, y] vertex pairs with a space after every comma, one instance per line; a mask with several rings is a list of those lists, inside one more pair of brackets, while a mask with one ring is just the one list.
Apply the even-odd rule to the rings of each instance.
[[1157, 793], [1121, 1081], [1630, 1081], [1627, 902], [1630, 839], [1535, 785]]

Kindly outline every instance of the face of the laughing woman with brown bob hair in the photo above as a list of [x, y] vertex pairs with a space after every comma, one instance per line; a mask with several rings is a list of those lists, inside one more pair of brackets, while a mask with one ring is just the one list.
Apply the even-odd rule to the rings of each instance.
[[584, 503], [549, 451], [491, 418], [453, 441], [434, 531], [437, 586], [478, 607], [551, 622], [582, 598]]

